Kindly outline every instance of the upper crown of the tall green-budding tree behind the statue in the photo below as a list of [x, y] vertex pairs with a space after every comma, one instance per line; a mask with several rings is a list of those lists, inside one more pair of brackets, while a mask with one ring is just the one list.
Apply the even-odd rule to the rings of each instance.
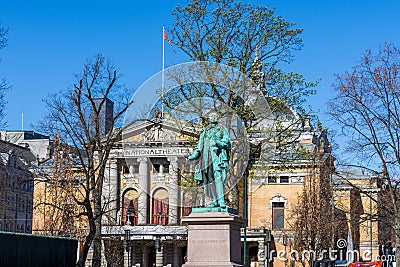
[[[281, 68], [301, 49], [303, 30], [273, 9], [233, 0], [193, 0], [178, 5], [172, 15], [172, 41], [191, 60], [226, 64], [247, 76], [254, 67], [261, 67], [263, 77], [258, 82], [264, 94], [298, 110], [303, 110], [305, 98], [314, 93], [316, 83]], [[253, 64], [256, 57], [260, 66]], [[235, 100], [231, 97], [225, 102], [232, 106]]]

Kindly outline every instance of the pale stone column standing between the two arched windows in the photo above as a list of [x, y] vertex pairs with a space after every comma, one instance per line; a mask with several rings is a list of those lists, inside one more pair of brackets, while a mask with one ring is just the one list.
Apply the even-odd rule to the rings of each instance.
[[147, 224], [149, 214], [148, 194], [150, 190], [149, 183], [149, 165], [147, 158], [138, 158], [139, 162], [139, 198], [138, 198], [138, 224]]

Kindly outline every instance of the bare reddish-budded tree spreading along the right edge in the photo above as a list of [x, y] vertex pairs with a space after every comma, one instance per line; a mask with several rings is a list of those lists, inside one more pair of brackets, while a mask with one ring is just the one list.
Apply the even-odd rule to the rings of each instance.
[[[368, 50], [351, 71], [336, 76], [330, 115], [348, 138], [344, 166], [361, 167], [378, 176], [391, 201], [388, 210], [400, 251], [400, 49], [384, 43]], [[345, 153], [342, 153], [344, 155]], [[385, 209], [380, 205], [380, 208]], [[397, 265], [400, 257], [397, 257]]]

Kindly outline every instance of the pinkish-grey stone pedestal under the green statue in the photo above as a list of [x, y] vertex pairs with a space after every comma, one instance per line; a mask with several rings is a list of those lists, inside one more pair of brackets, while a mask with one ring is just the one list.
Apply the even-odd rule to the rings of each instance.
[[184, 267], [243, 266], [243, 219], [228, 212], [192, 212], [182, 221], [188, 224], [188, 261]]

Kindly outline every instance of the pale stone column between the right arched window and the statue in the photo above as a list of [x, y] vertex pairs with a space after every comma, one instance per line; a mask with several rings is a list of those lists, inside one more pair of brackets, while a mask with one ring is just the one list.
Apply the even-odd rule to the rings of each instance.
[[169, 205], [168, 224], [178, 224], [179, 185], [178, 185], [178, 157], [168, 157], [169, 164]]

